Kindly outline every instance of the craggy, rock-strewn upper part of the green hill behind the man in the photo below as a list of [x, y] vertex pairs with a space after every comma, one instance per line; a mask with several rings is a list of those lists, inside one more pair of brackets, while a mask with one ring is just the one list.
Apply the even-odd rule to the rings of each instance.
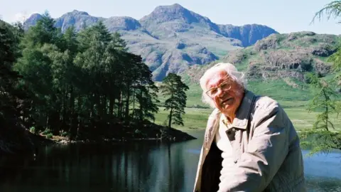
[[254, 46], [233, 50], [205, 66], [193, 65], [181, 75], [190, 83], [197, 84], [207, 68], [215, 63], [227, 62], [246, 73], [249, 81], [283, 80], [288, 85], [298, 87], [298, 83], [305, 82], [307, 73], [330, 74], [331, 63], [327, 62], [327, 58], [335, 53], [339, 41], [340, 36], [311, 31], [271, 34]]

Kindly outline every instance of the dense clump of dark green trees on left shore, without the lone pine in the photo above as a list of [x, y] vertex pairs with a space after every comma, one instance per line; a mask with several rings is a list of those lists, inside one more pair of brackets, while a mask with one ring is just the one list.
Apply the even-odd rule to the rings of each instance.
[[154, 119], [158, 87], [151, 71], [102, 22], [62, 33], [46, 12], [28, 31], [4, 25], [2, 120], [16, 114], [32, 132], [75, 138]]

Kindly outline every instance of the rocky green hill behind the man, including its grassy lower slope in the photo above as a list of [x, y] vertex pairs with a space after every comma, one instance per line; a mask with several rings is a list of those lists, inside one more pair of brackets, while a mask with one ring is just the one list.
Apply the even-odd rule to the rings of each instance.
[[338, 41], [339, 36], [309, 31], [273, 34], [210, 64], [193, 65], [180, 74], [190, 86], [188, 107], [204, 106], [198, 81], [205, 70], [219, 62], [233, 63], [243, 71], [248, 89], [256, 94], [273, 97], [285, 106], [303, 106], [312, 98], [305, 75], [320, 73], [325, 78], [330, 77], [331, 63], [326, 60], [335, 52]]

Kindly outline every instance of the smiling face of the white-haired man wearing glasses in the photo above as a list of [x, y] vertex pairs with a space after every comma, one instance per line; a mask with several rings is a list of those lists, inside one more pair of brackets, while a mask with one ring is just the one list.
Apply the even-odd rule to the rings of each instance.
[[207, 92], [218, 110], [225, 114], [234, 113], [242, 101], [244, 89], [234, 82], [225, 71], [207, 81]]

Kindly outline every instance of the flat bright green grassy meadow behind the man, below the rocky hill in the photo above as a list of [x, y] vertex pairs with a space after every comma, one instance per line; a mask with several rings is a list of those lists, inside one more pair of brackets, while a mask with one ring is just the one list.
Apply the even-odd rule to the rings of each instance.
[[[312, 97], [310, 88], [299, 82], [295, 82], [296, 85], [292, 83], [288, 85], [287, 82], [288, 80], [251, 81], [248, 82], [247, 87], [256, 95], [266, 95], [277, 100], [291, 118], [297, 130], [313, 127], [318, 113], [306, 110], [308, 102]], [[189, 87], [190, 90], [187, 91], [187, 107], [185, 108], [186, 114], [183, 115], [184, 126], [173, 125], [173, 127], [183, 131], [205, 129], [207, 117], [212, 112], [212, 109], [201, 102], [200, 85], [189, 85]], [[165, 99], [159, 95], [159, 100], [164, 102]], [[157, 124], [164, 124], [167, 115], [168, 111], [160, 107], [158, 114], [156, 114], [155, 122]], [[335, 128], [341, 130], [341, 118], [337, 119], [336, 115], [332, 115], [331, 118]]]

